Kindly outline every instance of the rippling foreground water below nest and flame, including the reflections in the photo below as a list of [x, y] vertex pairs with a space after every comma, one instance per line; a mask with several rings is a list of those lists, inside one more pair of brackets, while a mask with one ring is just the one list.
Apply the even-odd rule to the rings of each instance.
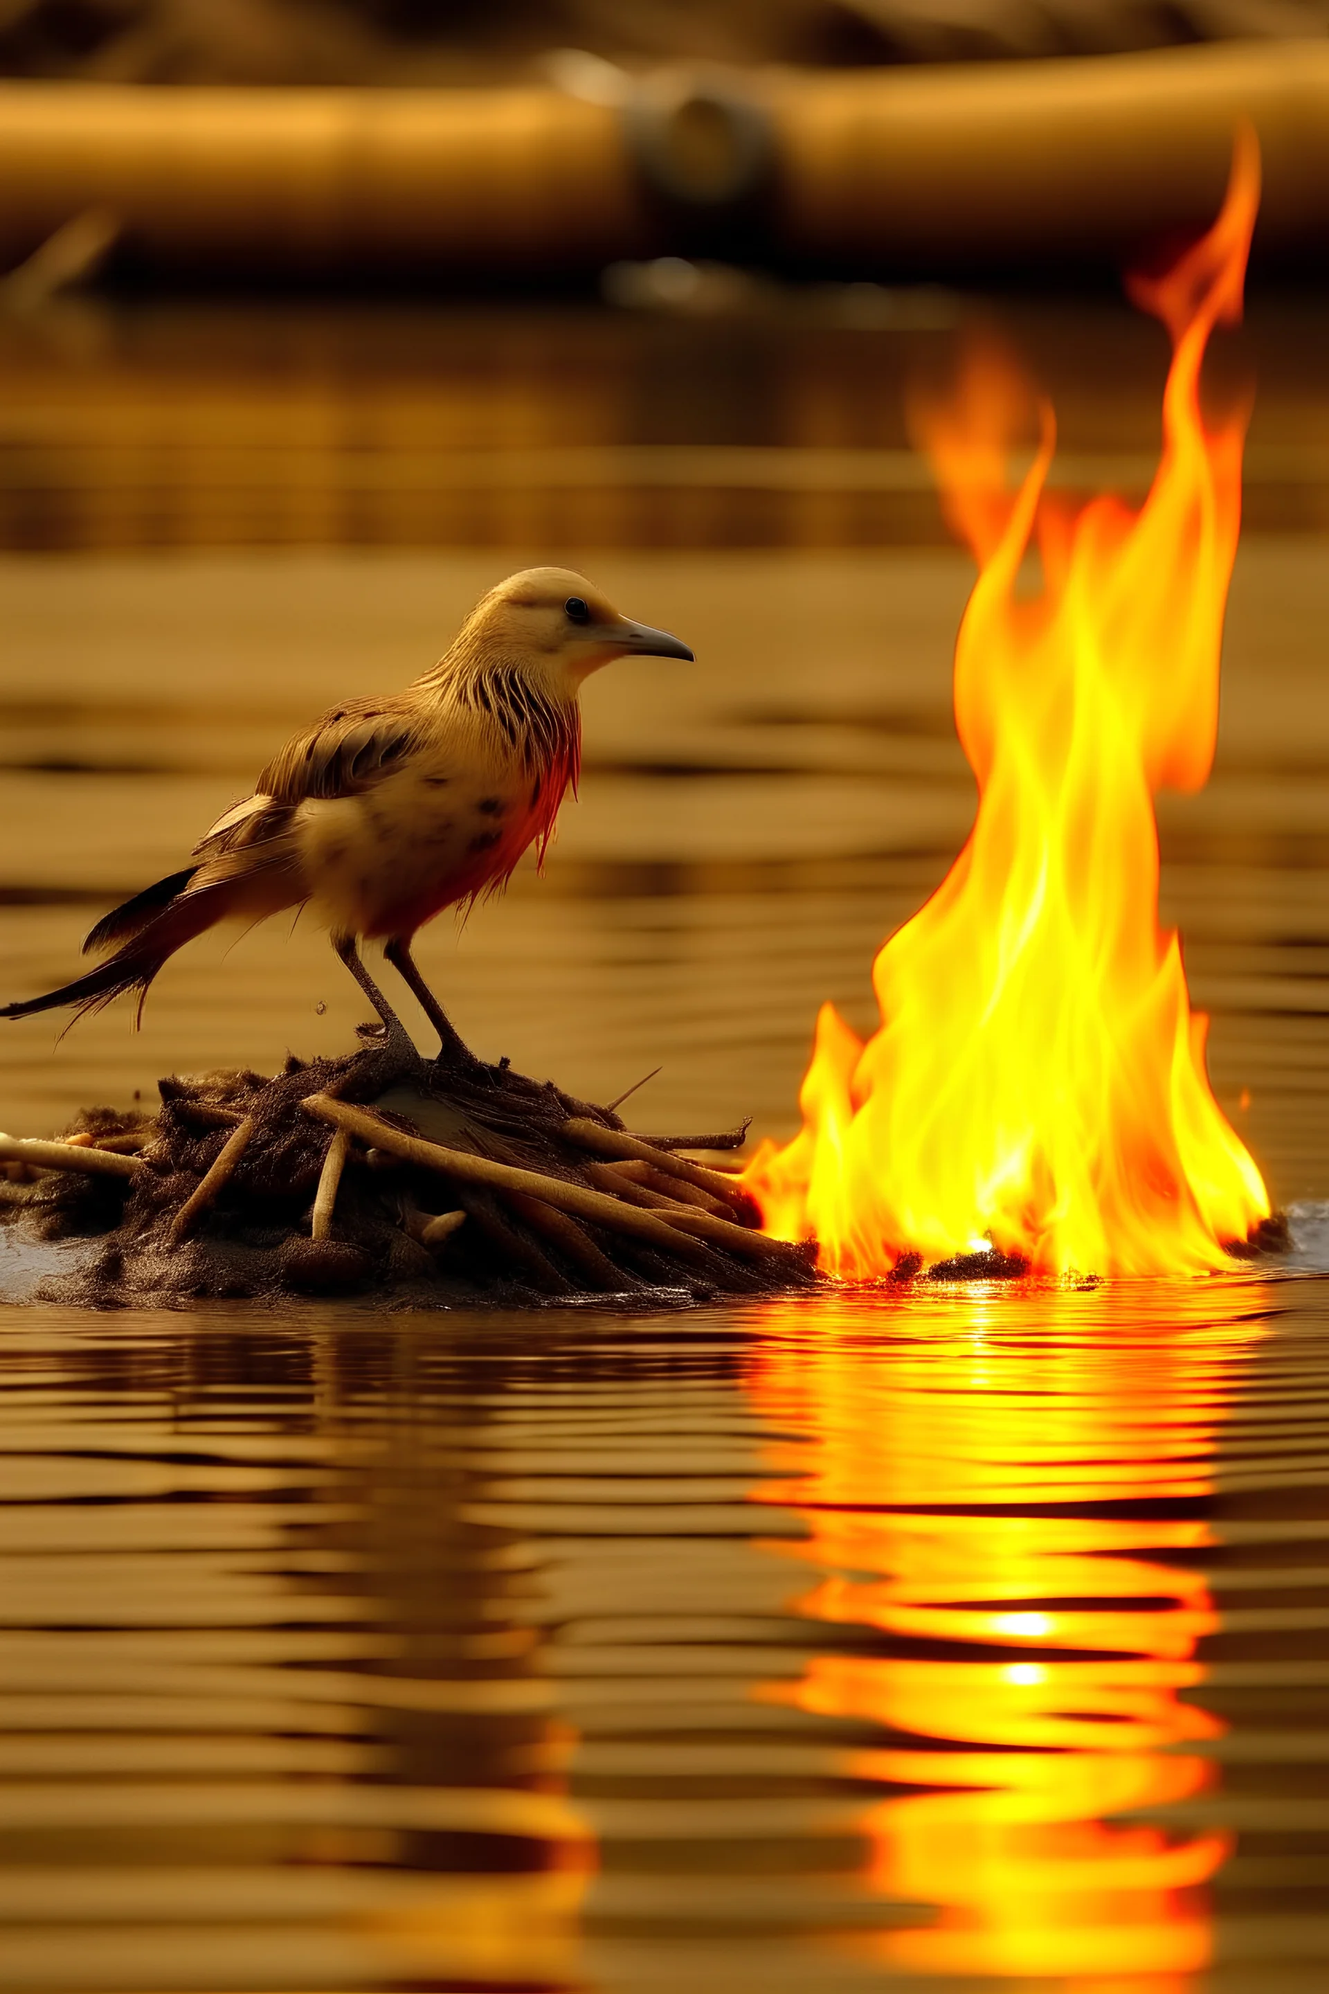
[[1317, 1284], [6, 1324], [4, 1978], [1317, 1988]]

